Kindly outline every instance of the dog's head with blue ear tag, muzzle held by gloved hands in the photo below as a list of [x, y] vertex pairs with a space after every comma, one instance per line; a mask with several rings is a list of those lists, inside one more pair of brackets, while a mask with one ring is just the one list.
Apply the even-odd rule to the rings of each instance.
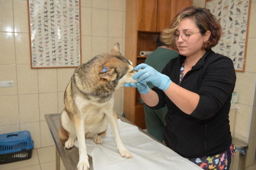
[[108, 81], [114, 89], [118, 89], [124, 83], [137, 83], [137, 79], [132, 79], [133, 75], [137, 73], [126, 57], [122, 56], [119, 43], [115, 43], [110, 53], [105, 53], [105, 60], [102, 63], [102, 70], [98, 75]]

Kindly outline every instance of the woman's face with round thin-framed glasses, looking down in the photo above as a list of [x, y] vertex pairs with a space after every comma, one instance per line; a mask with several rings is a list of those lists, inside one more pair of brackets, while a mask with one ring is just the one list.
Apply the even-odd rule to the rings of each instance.
[[188, 40], [182, 39], [186, 39], [185, 37], [188, 37], [188, 34], [184, 35], [182, 38], [179, 35], [178, 40], [175, 41], [180, 54], [186, 57], [198, 57], [198, 55], [201, 55], [201, 53], [204, 52], [201, 48], [203, 46], [205, 36], [200, 34], [196, 24], [190, 18], [183, 18], [181, 20], [180, 26], [176, 30], [176, 34], [180, 34], [182, 32], [187, 32], [190, 35]]

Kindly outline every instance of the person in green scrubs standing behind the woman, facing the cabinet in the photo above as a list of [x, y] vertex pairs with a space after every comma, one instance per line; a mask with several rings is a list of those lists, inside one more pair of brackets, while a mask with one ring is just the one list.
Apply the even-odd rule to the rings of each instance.
[[[150, 53], [145, 60], [145, 64], [150, 65], [158, 72], [161, 72], [164, 66], [175, 57], [178, 57], [179, 53], [172, 50], [170, 47], [165, 45], [160, 41], [160, 36], [156, 39], [156, 50]], [[152, 89], [153, 85], [151, 82], [147, 82], [147, 85], [150, 89]], [[144, 102], [140, 99], [140, 103]], [[154, 138], [160, 140], [160, 142], [164, 141], [164, 127], [166, 125], [165, 116], [167, 113], [167, 107], [163, 107], [158, 110], [152, 110], [144, 104], [144, 113], [145, 113], [145, 121], [146, 128], [148, 133]]]

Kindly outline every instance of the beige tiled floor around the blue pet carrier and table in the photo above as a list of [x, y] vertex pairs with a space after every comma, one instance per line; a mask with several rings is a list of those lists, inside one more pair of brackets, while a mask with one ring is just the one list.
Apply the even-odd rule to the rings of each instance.
[[[55, 170], [55, 146], [33, 149], [32, 158], [2, 164], [0, 170]], [[60, 170], [65, 170], [61, 160]], [[256, 161], [245, 170], [256, 170]]]

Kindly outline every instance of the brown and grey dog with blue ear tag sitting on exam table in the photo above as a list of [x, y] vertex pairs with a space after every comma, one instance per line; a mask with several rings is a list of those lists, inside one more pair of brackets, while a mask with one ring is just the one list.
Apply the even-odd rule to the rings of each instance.
[[74, 140], [78, 139], [78, 170], [90, 168], [85, 139], [92, 138], [96, 144], [102, 144], [100, 135], [106, 133], [108, 122], [121, 156], [132, 158], [120, 137], [113, 93], [124, 83], [137, 83], [136, 79], [132, 79], [137, 71], [119, 49], [119, 43], [115, 43], [111, 52], [97, 55], [77, 67], [66, 87], [65, 108], [60, 117], [58, 134], [61, 140], [68, 139], [66, 148], [72, 148]]

